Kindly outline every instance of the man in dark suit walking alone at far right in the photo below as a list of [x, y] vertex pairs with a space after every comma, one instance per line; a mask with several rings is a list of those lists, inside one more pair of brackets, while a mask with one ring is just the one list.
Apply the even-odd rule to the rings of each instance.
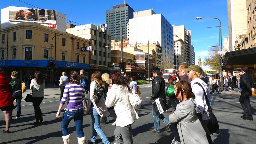
[[252, 95], [252, 76], [247, 73], [248, 67], [242, 67], [243, 75], [240, 77], [240, 87], [242, 88], [239, 102], [243, 107], [243, 116], [245, 120], [252, 120], [250, 97]]

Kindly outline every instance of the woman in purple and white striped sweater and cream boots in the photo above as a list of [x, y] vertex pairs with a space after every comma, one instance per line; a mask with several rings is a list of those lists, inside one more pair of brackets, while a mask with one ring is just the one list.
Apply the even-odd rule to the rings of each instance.
[[56, 114], [56, 117], [60, 117], [60, 110], [65, 104], [65, 101], [68, 100], [67, 108], [63, 114], [63, 119], [61, 123], [62, 129], [62, 139], [63, 142], [70, 143], [70, 134], [68, 134], [68, 124], [72, 119], [74, 119], [76, 124], [77, 140], [79, 144], [86, 143], [84, 131], [83, 131], [83, 100], [84, 100], [84, 85], [80, 84], [80, 77], [77, 72], [71, 72], [70, 82], [66, 84], [63, 97], [60, 101], [60, 107]]

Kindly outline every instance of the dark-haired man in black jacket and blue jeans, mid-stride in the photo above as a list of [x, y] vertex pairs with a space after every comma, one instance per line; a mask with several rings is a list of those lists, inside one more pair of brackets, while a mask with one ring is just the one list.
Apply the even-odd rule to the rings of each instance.
[[[164, 102], [166, 103], [165, 83], [164, 83], [164, 79], [161, 77], [160, 69], [155, 67], [153, 69], [152, 74], [153, 74], [153, 77], [155, 77], [155, 78], [152, 81], [152, 95], [151, 95], [151, 99], [154, 101], [157, 98], [162, 98], [164, 100]], [[153, 115], [153, 118], [154, 118], [154, 128], [151, 128], [149, 130], [150, 132], [160, 133], [160, 121], [159, 121], [159, 118], [161, 118], [161, 120], [165, 124], [165, 131], [167, 131], [170, 128], [170, 126], [171, 126], [170, 121], [167, 118], [165, 118], [163, 114], [160, 114], [158, 116], [156, 114], [154, 106], [152, 106], [152, 115]]]

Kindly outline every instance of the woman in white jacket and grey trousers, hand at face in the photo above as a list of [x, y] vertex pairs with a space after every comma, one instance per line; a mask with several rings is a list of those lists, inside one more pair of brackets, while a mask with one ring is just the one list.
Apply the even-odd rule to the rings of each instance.
[[139, 118], [135, 109], [129, 101], [128, 92], [131, 93], [129, 78], [124, 77], [120, 71], [110, 73], [110, 81], [107, 93], [106, 106], [114, 106], [116, 112], [115, 143], [133, 144], [132, 141], [132, 123]]

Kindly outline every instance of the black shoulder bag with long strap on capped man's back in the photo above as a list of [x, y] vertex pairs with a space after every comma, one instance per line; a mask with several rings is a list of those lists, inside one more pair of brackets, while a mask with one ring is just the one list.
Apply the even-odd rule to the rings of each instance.
[[[200, 83], [196, 82], [195, 84], [198, 84], [203, 89], [203, 91], [204, 91], [204, 88], [203, 88], [203, 86]], [[215, 117], [215, 115], [212, 112], [212, 107], [210, 105], [210, 102], [208, 100], [208, 97], [207, 97], [205, 91], [204, 91], [204, 98], [206, 100], [206, 104], [208, 106], [208, 112], [209, 112], [209, 116], [210, 116], [210, 122], [208, 124], [208, 130], [209, 130], [209, 132], [217, 133], [218, 134], [218, 133], [220, 133], [220, 128], [219, 128], [218, 120], [217, 120], [217, 118]]]

